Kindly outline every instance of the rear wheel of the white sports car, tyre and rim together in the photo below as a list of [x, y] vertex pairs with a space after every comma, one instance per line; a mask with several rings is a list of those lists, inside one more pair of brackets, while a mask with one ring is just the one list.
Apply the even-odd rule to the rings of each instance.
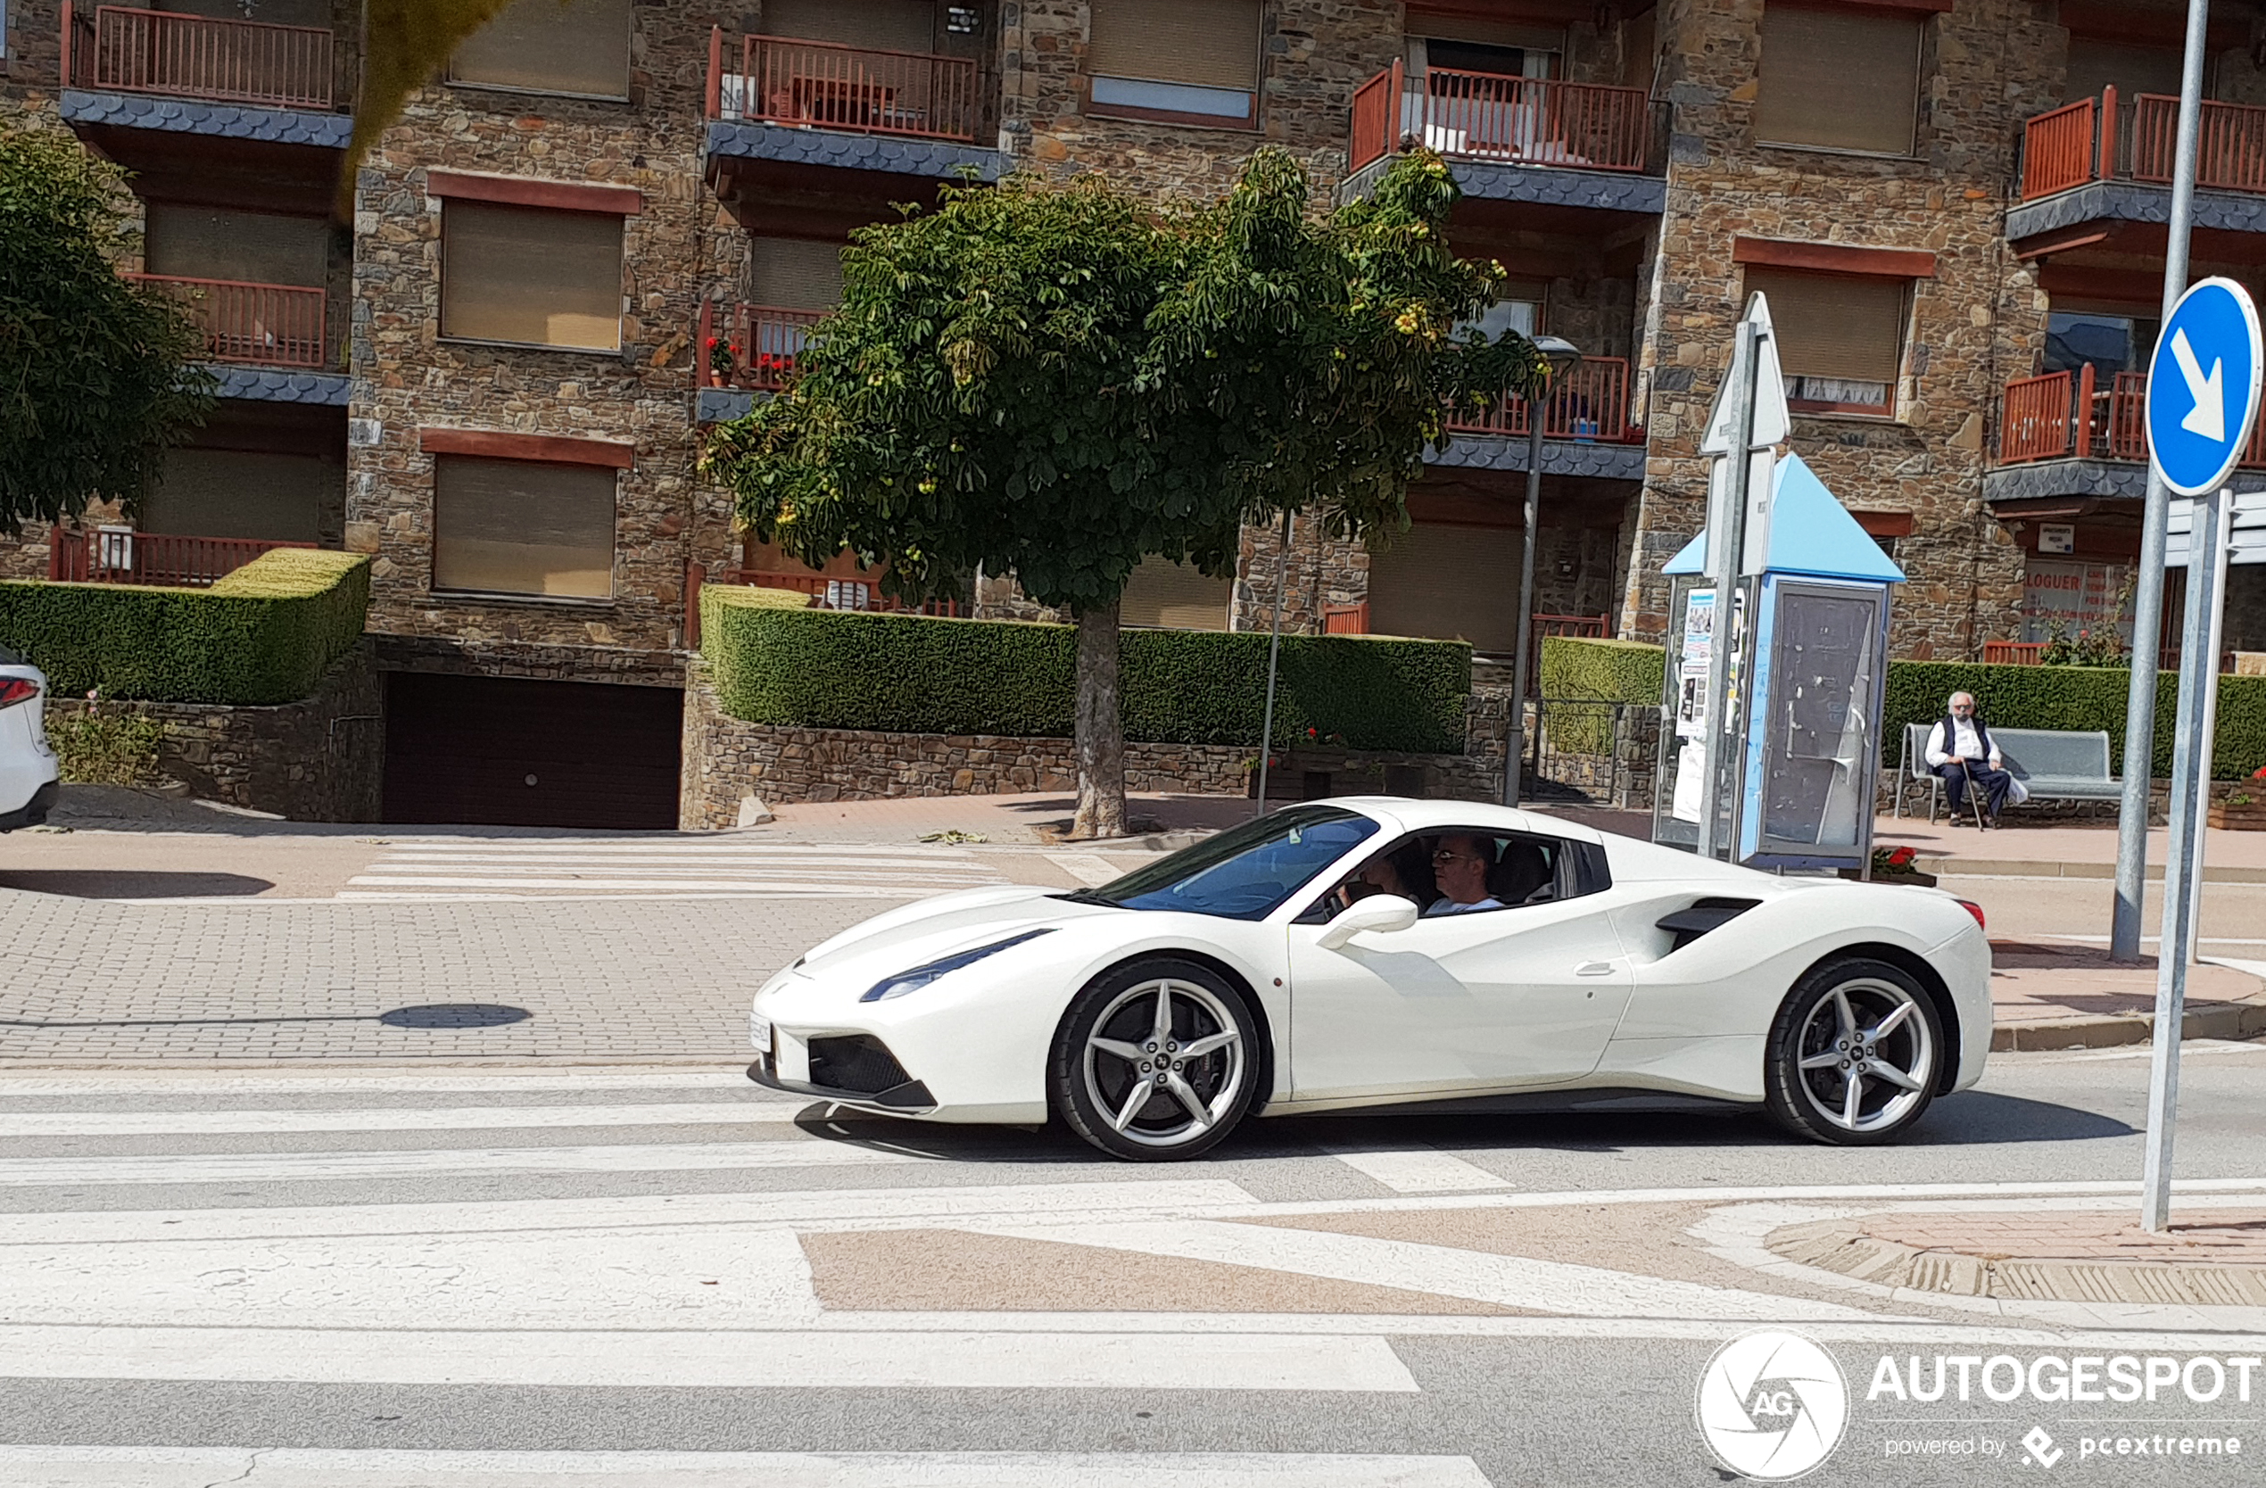
[[1806, 972], [1779, 1006], [1763, 1098], [1772, 1119], [1797, 1137], [1879, 1146], [1926, 1114], [1944, 1053], [1942, 1017], [1919, 978], [1885, 960], [1847, 956]]

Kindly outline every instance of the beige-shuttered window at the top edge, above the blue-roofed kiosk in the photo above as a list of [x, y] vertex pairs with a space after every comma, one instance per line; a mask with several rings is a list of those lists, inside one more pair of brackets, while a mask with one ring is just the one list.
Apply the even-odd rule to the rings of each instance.
[[1763, 7], [1754, 138], [1913, 154], [1924, 18], [1894, 9]]

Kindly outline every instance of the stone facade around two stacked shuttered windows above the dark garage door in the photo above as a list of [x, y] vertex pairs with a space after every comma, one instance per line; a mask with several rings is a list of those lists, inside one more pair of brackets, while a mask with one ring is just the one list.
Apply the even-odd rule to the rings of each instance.
[[[630, 100], [596, 102], [440, 84], [417, 93], [356, 181], [353, 403], [347, 546], [374, 555], [376, 632], [480, 645], [666, 657], [682, 645], [684, 566], [730, 553], [723, 496], [693, 473], [691, 326], [732, 283], [736, 229], [700, 177], [712, 20], [743, 14], [632, 7]], [[628, 186], [621, 351], [444, 340], [442, 204], [426, 170]], [[433, 455], [419, 428], [628, 442], [610, 600], [433, 591]]]

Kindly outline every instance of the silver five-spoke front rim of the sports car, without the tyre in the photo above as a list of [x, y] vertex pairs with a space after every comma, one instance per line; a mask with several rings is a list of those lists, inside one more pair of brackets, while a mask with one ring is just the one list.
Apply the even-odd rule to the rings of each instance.
[[1251, 1058], [1210, 987], [1158, 976], [1122, 990], [1088, 1024], [1085, 1094], [1126, 1141], [1174, 1148], [1203, 1137], [1242, 1096]]

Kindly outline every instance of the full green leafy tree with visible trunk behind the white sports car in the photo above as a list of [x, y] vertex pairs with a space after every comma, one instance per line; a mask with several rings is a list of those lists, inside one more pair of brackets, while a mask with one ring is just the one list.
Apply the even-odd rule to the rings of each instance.
[[863, 229], [795, 380], [714, 430], [741, 521], [809, 564], [852, 550], [906, 600], [1015, 573], [1079, 625], [1074, 836], [1124, 831], [1117, 600], [1149, 555], [1233, 573], [1242, 523], [1398, 532], [1453, 403], [1539, 376], [1457, 333], [1498, 265], [1448, 251], [1457, 188], [1416, 154], [1319, 220], [1255, 154], [1212, 204], [1081, 177], [947, 188]]

